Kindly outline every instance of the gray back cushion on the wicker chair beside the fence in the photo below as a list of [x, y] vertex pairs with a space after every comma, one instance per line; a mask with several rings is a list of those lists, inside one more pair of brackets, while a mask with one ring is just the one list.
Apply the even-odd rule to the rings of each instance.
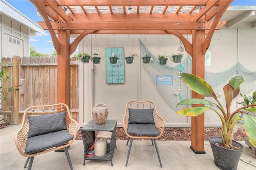
[[49, 132], [66, 130], [66, 111], [49, 115], [28, 116], [28, 138]]

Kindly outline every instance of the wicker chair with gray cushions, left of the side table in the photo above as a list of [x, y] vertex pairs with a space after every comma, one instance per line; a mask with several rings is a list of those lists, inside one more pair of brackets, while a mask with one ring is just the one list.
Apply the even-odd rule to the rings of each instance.
[[22, 126], [14, 136], [16, 147], [22, 156], [26, 156], [28, 170], [31, 169], [34, 156], [63, 149], [70, 169], [71, 160], [68, 146], [74, 142], [78, 132], [78, 123], [71, 118], [66, 104], [32, 106], [26, 109]]

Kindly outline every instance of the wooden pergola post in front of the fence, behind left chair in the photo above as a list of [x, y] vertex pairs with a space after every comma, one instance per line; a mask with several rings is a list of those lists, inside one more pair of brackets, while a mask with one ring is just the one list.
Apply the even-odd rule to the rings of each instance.
[[70, 31], [58, 30], [60, 53], [57, 62], [57, 103], [70, 105]]

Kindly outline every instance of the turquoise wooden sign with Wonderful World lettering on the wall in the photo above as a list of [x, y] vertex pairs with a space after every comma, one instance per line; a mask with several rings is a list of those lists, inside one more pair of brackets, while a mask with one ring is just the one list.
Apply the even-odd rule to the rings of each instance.
[[[109, 57], [118, 57], [116, 64], [111, 64]], [[106, 79], [108, 84], [124, 83], [124, 47], [106, 48]]]

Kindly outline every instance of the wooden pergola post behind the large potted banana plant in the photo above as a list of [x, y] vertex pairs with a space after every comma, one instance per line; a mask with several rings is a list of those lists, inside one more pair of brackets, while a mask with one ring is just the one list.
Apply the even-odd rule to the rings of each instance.
[[[192, 74], [198, 75], [204, 79], [204, 42], [205, 31], [192, 31]], [[204, 99], [202, 95], [192, 91], [192, 98]], [[193, 105], [192, 105], [193, 107]], [[204, 151], [204, 113], [197, 117], [191, 118], [191, 146], [190, 148], [196, 154], [205, 154]]]

